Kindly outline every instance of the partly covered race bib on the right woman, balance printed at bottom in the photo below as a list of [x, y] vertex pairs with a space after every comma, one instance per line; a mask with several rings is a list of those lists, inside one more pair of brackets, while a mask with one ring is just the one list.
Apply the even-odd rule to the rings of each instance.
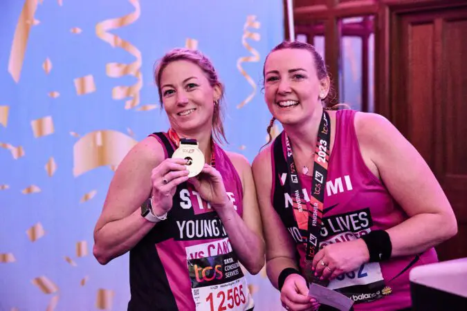
[[[369, 232], [369, 229], [367, 231]], [[352, 241], [356, 238], [352, 232], [343, 232], [320, 244], [328, 245], [336, 241]], [[379, 263], [365, 263], [355, 271], [341, 274], [330, 281], [327, 287], [345, 294], [355, 303], [374, 301], [391, 293], [390, 288], [385, 286]]]

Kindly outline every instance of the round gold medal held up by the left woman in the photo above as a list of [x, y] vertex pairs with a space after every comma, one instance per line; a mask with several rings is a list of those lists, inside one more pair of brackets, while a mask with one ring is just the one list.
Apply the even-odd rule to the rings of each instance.
[[198, 148], [196, 140], [182, 138], [178, 149], [172, 154], [172, 158], [180, 158], [187, 160], [187, 170], [190, 171], [188, 177], [194, 177], [201, 173], [204, 167], [204, 155]]

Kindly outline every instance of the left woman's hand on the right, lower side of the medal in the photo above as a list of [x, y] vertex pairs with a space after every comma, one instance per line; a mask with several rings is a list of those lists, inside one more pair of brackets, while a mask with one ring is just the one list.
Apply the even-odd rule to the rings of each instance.
[[209, 164], [204, 164], [201, 173], [196, 177], [190, 178], [188, 181], [192, 183], [201, 198], [208, 201], [212, 208], [217, 211], [230, 202], [226, 187], [223, 185], [221, 173]]

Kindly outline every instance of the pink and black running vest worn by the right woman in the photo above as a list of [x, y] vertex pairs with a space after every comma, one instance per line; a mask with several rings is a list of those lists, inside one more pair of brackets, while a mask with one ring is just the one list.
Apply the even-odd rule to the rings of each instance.
[[[352, 110], [336, 113], [336, 135], [324, 189], [320, 245], [351, 241], [372, 230], [388, 229], [408, 219], [363, 161], [354, 127], [355, 114], [356, 111]], [[306, 251], [303, 242], [306, 241], [302, 241], [302, 234], [293, 216], [291, 195], [286, 193], [290, 177], [285, 154], [285, 133], [282, 132], [275, 139], [271, 152], [274, 168], [271, 200], [297, 243], [299, 265], [303, 269]], [[310, 208], [311, 176], [299, 174], [299, 178], [307, 207]], [[410, 269], [436, 261], [437, 254], [434, 248], [430, 248], [418, 255], [391, 258], [381, 263], [365, 263], [354, 272], [331, 281], [328, 288], [353, 299], [355, 310], [408, 308], [411, 305]]]

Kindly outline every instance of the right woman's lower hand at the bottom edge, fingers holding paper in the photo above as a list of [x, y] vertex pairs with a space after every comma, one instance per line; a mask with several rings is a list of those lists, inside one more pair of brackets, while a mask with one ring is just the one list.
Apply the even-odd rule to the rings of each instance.
[[318, 310], [320, 304], [316, 299], [308, 296], [308, 292], [309, 289], [306, 286], [304, 277], [300, 274], [291, 274], [284, 281], [280, 292], [280, 300], [286, 310]]

